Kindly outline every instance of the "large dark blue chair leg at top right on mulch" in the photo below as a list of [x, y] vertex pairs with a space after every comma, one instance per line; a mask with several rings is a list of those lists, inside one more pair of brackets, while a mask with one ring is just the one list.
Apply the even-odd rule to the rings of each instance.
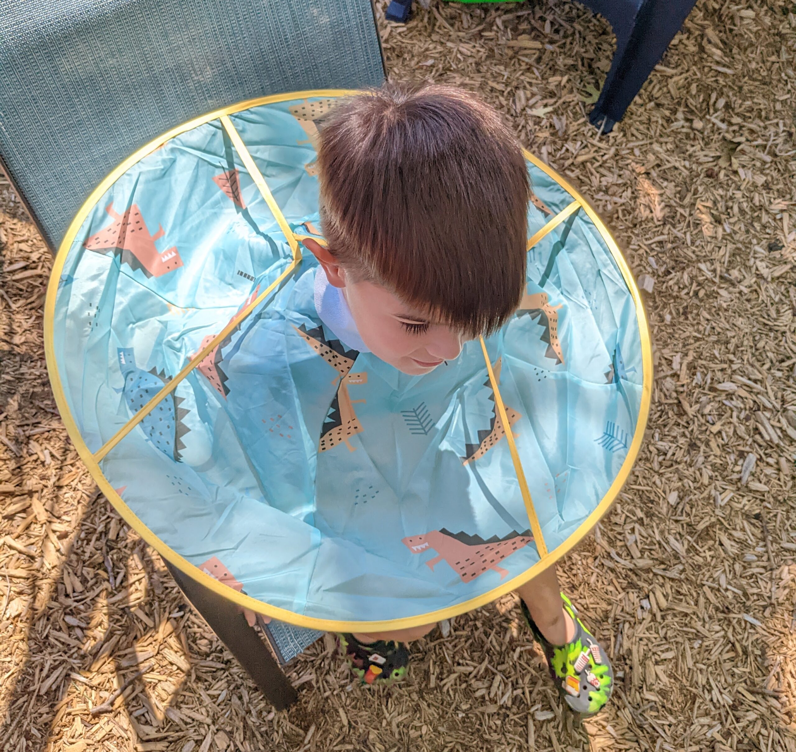
[[[599, 6], [602, 3], [589, 2]], [[695, 0], [646, 0], [638, 10], [632, 27], [610, 18], [616, 33], [616, 53], [589, 120], [603, 133], [609, 133], [625, 114], [630, 102], [644, 85], [647, 76], [661, 60], [669, 42], [683, 25]], [[602, 12], [602, 8], [599, 8]]]

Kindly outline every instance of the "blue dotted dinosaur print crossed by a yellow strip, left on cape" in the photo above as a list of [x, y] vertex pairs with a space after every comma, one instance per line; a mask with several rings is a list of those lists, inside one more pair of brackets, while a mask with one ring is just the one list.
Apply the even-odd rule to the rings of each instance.
[[[154, 368], [150, 371], [138, 368], [131, 348], [119, 348], [118, 355], [119, 368], [124, 377], [122, 390], [124, 400], [128, 409], [135, 415], [165, 384], [168, 384], [170, 378], [164, 372], [158, 373]], [[181, 397], [176, 397], [172, 392], [141, 421], [146, 438], [155, 448], [166, 454], [166, 457], [173, 458], [176, 462], [181, 460], [180, 450], [185, 449], [182, 437], [189, 431], [182, 423], [188, 411], [180, 407], [181, 402]]]

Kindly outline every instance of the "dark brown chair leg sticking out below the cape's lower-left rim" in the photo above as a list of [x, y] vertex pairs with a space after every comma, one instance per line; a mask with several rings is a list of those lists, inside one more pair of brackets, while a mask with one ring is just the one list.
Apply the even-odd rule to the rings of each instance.
[[185, 598], [207, 621], [221, 642], [246, 669], [254, 683], [263, 691], [277, 710], [284, 710], [295, 702], [298, 693], [287, 680], [271, 650], [250, 627], [243, 614], [231, 601], [217, 595], [204, 585], [190, 579], [172, 564], [166, 562], [171, 576]]

